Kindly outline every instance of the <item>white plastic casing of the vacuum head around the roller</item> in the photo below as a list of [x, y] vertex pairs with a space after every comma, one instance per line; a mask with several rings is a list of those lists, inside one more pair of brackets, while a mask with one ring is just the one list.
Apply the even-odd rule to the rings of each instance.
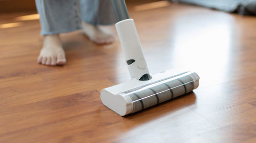
[[125, 116], [132, 113], [134, 103], [129, 96], [125, 96], [125, 94], [122, 93], [143, 87], [144, 85], [151, 85], [152, 83], [186, 74], [190, 74], [191, 78], [193, 78], [194, 89], [196, 89], [199, 85], [199, 76], [195, 72], [168, 70], [152, 75], [152, 79], [150, 80], [140, 81], [131, 79], [128, 82], [102, 89], [100, 91], [100, 99], [105, 106], [109, 107], [120, 116]]

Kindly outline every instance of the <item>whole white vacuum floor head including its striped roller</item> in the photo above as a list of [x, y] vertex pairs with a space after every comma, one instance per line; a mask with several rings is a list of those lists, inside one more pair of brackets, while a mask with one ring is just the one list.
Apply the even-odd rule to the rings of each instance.
[[168, 70], [152, 75], [152, 79], [128, 82], [101, 90], [102, 103], [125, 116], [147, 107], [173, 99], [193, 91], [199, 85], [199, 76], [195, 72]]

